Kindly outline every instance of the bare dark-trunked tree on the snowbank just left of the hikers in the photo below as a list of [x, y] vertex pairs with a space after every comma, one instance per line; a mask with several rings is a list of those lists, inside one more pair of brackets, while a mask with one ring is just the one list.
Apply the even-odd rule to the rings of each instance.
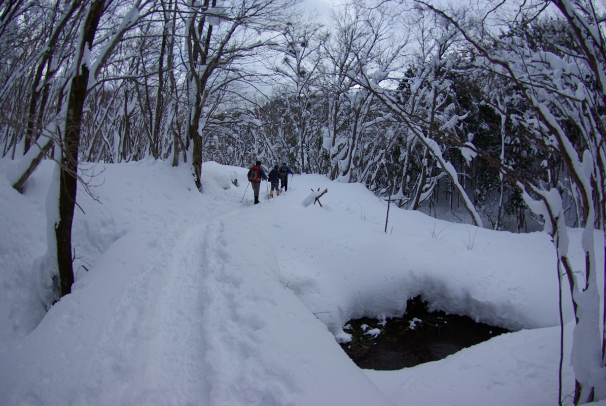
[[188, 9], [182, 11], [187, 38], [187, 139], [193, 141], [192, 165], [198, 189], [202, 188], [201, 124], [204, 126], [208, 118], [204, 109], [214, 76], [223, 72], [224, 86], [239, 80], [242, 60], [268, 44], [291, 5], [291, 0], [238, 0], [227, 5], [205, 0], [201, 5], [190, 1]]

